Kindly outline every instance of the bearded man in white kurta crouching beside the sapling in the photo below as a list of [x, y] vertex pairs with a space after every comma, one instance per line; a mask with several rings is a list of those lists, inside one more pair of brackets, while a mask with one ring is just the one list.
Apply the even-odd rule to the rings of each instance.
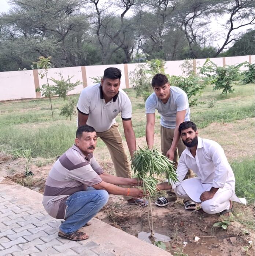
[[[234, 192], [234, 173], [222, 147], [215, 141], [198, 137], [193, 122], [181, 123], [179, 132], [186, 149], [178, 162], [178, 181], [171, 184], [177, 196], [201, 203], [208, 214], [229, 216], [232, 201], [246, 204], [245, 198], [238, 198]], [[183, 180], [188, 169], [197, 177]]]

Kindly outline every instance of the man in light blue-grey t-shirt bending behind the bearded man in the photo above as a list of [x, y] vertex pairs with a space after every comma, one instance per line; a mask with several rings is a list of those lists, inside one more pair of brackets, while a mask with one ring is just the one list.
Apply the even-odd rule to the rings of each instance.
[[[179, 125], [184, 121], [190, 120], [190, 110], [187, 94], [180, 88], [170, 86], [167, 77], [163, 74], [156, 74], [152, 79], [152, 93], [146, 100], [146, 141], [149, 148], [154, 145], [154, 126], [155, 110], [160, 113], [160, 141], [161, 151], [177, 166], [178, 156], [185, 149], [180, 133]], [[191, 175], [191, 170], [186, 178]], [[159, 198], [156, 203], [158, 206], [165, 206], [170, 201], [177, 199], [174, 191], [167, 191], [167, 198]], [[163, 200], [163, 201], [162, 201]], [[190, 201], [184, 202], [185, 209], [195, 209], [195, 203]]]

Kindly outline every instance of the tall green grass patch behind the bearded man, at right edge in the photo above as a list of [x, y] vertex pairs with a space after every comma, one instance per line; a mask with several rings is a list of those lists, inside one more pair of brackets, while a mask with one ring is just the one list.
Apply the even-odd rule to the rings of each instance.
[[233, 162], [231, 167], [236, 178], [236, 195], [245, 197], [248, 203], [255, 202], [255, 156], [242, 162]]

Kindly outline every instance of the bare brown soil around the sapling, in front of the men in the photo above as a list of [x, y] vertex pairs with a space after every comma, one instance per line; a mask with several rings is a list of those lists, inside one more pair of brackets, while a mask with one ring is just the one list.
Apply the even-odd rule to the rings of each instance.
[[[239, 206], [234, 203], [234, 207]], [[96, 217], [137, 236], [141, 231], [150, 232], [148, 210], [148, 207], [127, 205], [120, 196], [111, 195], [107, 205]], [[213, 224], [222, 218], [209, 214], [197, 216], [186, 211], [181, 200], [162, 208], [153, 202], [152, 211], [154, 231], [170, 237], [171, 240], [165, 244], [167, 251], [173, 255], [175, 252], [186, 253], [188, 256], [255, 255], [253, 248], [249, 248], [250, 254], [245, 251], [245, 246], [249, 245], [248, 241], [255, 241], [255, 234], [252, 231], [247, 234], [244, 226], [236, 221], [231, 221], [227, 230], [213, 227]], [[242, 211], [255, 213], [254, 209], [248, 206], [242, 206]], [[195, 242], [195, 237], [199, 237], [199, 241]], [[188, 244], [184, 247], [183, 242]]]

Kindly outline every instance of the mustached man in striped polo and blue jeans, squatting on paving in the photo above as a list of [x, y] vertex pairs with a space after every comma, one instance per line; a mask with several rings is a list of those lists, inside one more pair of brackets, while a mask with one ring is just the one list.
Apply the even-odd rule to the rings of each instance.
[[60, 156], [47, 177], [42, 203], [50, 216], [64, 219], [59, 226], [60, 237], [75, 241], [87, 239], [89, 236], [79, 228], [90, 224], [88, 221], [107, 203], [109, 194], [144, 196], [138, 188], [118, 187], [136, 186], [137, 179], [104, 172], [93, 156], [96, 142], [93, 127], [79, 127], [75, 144]]

